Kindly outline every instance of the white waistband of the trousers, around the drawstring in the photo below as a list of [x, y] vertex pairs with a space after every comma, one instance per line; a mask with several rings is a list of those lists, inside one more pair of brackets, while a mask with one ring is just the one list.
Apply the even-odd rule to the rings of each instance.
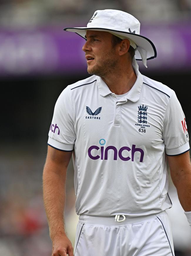
[[91, 215], [81, 214], [79, 216], [79, 222], [90, 224], [90, 225], [121, 226], [121, 225], [141, 223], [151, 219], [156, 219], [157, 217], [163, 214], [167, 214], [166, 211], [162, 211], [160, 213], [150, 214], [146, 216], [138, 216], [138, 217], [125, 216], [125, 219], [122, 215], [120, 215], [119, 220], [124, 219], [122, 222], [115, 221], [115, 216], [105, 217], [105, 216], [91, 216]]

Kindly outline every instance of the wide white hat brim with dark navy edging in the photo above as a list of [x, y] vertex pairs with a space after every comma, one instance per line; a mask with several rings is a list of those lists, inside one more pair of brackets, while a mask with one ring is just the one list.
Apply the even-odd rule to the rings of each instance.
[[[155, 45], [153, 44], [153, 42], [150, 39], [148, 39], [147, 37], [144, 37], [142, 35], [118, 31], [118, 30], [100, 28], [100, 27], [98, 27], [98, 28], [95, 28], [95, 27], [92, 27], [92, 28], [91, 27], [65, 27], [64, 30], [74, 32], [74, 33], [80, 35], [81, 37], [83, 37], [84, 39], [86, 39], [86, 37], [85, 37], [86, 30], [105, 31], [105, 32], [112, 31], [112, 32], [115, 32], [116, 35], [127, 37], [127, 39], [130, 38], [133, 42], [135, 42], [135, 44], [137, 46], [146, 50], [147, 51], [147, 60], [154, 59], [157, 56], [157, 51], [156, 51], [156, 48], [155, 48]], [[135, 49], [135, 59], [137, 61], [142, 60], [139, 51], [136, 49]]]

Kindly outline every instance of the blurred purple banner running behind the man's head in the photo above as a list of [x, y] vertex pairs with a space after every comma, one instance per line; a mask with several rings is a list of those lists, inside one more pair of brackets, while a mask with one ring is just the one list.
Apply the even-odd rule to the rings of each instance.
[[[157, 49], [147, 71], [185, 70], [191, 67], [190, 24], [141, 27]], [[84, 39], [62, 27], [0, 30], [0, 76], [86, 74]], [[145, 70], [138, 61], [140, 69]]]

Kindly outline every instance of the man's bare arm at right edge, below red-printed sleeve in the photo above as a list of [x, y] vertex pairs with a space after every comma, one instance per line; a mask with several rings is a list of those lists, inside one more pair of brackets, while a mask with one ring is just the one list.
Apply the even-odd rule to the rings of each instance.
[[180, 204], [185, 212], [191, 212], [191, 162], [189, 151], [178, 156], [167, 156], [167, 160]]

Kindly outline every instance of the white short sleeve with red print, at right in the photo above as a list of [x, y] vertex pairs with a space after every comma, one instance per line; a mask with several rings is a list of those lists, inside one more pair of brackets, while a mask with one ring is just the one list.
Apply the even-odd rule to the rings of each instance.
[[163, 141], [168, 156], [177, 156], [190, 149], [185, 115], [174, 91], [164, 116]]

